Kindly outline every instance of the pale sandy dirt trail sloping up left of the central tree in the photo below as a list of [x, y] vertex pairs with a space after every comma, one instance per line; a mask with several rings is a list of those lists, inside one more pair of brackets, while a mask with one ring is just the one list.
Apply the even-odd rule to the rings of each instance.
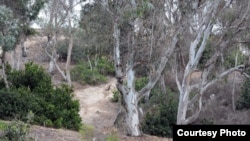
[[115, 78], [99, 86], [87, 86], [75, 90], [75, 97], [80, 101], [80, 116], [84, 124], [103, 132], [113, 126], [117, 113], [117, 104], [110, 102], [115, 89]]

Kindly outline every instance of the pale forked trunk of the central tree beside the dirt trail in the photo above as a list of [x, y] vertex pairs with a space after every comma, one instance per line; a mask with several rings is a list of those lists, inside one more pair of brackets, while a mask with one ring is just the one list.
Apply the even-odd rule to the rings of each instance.
[[114, 23], [115, 46], [114, 46], [114, 60], [117, 79], [117, 88], [121, 93], [123, 107], [125, 109], [126, 129], [130, 136], [140, 136], [139, 128], [139, 111], [138, 111], [138, 94], [135, 91], [135, 72], [133, 70], [133, 62], [130, 62], [127, 71], [127, 85], [124, 84], [125, 74], [122, 71], [120, 60], [120, 29], [117, 22]]

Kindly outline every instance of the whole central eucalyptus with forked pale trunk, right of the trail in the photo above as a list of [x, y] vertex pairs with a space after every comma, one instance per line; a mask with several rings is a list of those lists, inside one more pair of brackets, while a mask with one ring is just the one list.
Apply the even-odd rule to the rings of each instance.
[[[122, 97], [127, 134], [140, 136], [140, 114], [143, 111], [139, 101], [150, 94], [176, 47], [182, 30], [179, 14], [176, 8], [167, 10], [164, 1], [121, 0], [100, 3], [113, 21], [115, 77]], [[175, 3], [172, 4], [175, 6]], [[166, 13], [171, 16], [166, 16]], [[149, 68], [145, 73], [148, 83], [136, 91], [136, 68], [140, 65]]]

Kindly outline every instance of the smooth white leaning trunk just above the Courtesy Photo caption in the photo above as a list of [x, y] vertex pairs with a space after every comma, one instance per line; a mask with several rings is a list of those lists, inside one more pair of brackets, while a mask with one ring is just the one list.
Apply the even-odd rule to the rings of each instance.
[[[185, 67], [184, 76], [182, 78], [182, 82], [180, 83], [178, 80], [178, 77], [176, 76], [176, 83], [180, 92], [179, 95], [179, 104], [178, 104], [178, 113], [177, 113], [177, 124], [189, 124], [193, 121], [195, 121], [196, 118], [198, 118], [198, 115], [201, 111], [202, 107], [202, 94], [204, 90], [200, 88], [200, 92], [197, 94], [198, 97], [198, 103], [199, 107], [196, 113], [194, 113], [192, 116], [187, 117], [187, 110], [188, 106], [191, 101], [189, 100], [190, 92], [193, 89], [193, 86], [190, 84], [190, 79], [192, 73], [197, 68], [197, 65], [200, 61], [200, 58], [202, 56], [202, 53], [205, 50], [207, 40], [211, 34], [212, 30], [212, 20], [215, 16], [215, 13], [217, 11], [217, 7], [219, 4], [219, 1], [214, 1], [213, 3], [207, 2], [207, 5], [205, 5], [205, 10], [203, 10], [201, 13], [201, 18], [197, 19], [198, 25], [198, 33], [195, 37], [195, 39], [191, 42], [189, 47], [189, 62]], [[209, 9], [209, 10], [208, 10]], [[201, 43], [199, 45], [199, 43]], [[210, 71], [210, 69], [208, 69]], [[209, 72], [208, 71], [208, 72]], [[207, 74], [208, 73], [204, 73]], [[203, 83], [202, 83], [203, 82]], [[202, 81], [200, 87], [203, 87], [205, 81]], [[192, 101], [193, 102], [193, 101]]]

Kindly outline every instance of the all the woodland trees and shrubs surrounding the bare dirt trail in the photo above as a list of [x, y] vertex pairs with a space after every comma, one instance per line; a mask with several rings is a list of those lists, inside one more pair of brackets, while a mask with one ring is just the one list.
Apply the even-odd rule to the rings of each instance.
[[[73, 82], [114, 77], [114, 127], [128, 136], [249, 124], [249, 15], [248, 0], [0, 0], [0, 118], [79, 131]], [[33, 36], [46, 37], [42, 63], [22, 66]]]

